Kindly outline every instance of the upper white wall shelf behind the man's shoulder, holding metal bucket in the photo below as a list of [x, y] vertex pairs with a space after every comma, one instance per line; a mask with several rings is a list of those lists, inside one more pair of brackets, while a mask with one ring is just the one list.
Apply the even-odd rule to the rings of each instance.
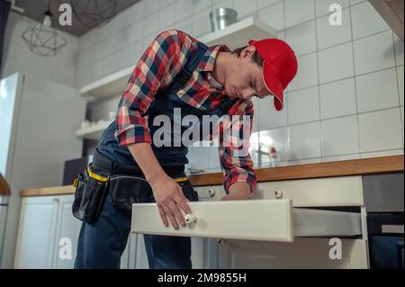
[[[257, 17], [251, 16], [229, 25], [224, 30], [205, 34], [202, 37], [198, 37], [198, 39], [209, 46], [226, 44], [230, 49], [235, 49], [247, 45], [247, 41], [250, 39], [260, 40], [276, 37], [277, 31], [275, 29], [261, 22]], [[80, 94], [103, 99], [122, 94], [133, 68], [133, 66], [126, 67], [109, 76], [104, 76], [91, 84], [85, 85], [79, 90]]]

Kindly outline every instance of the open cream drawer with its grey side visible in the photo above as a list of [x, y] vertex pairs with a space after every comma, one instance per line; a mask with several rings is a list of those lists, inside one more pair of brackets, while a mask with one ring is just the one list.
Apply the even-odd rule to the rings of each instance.
[[133, 204], [131, 232], [180, 237], [293, 242], [295, 237], [361, 235], [360, 213], [293, 208], [288, 199], [189, 202], [187, 226], [166, 228], [156, 203]]

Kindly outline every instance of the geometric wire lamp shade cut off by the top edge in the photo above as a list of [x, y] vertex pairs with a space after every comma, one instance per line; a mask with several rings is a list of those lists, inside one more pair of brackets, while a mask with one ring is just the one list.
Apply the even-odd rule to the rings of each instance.
[[72, 11], [77, 20], [89, 28], [101, 26], [115, 17], [115, 0], [71, 0]]

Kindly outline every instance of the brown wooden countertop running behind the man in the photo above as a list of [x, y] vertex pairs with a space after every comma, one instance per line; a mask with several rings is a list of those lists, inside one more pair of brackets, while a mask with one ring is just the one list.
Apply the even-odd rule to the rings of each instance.
[[[344, 175], [371, 175], [392, 172], [403, 172], [403, 156], [372, 157], [353, 160], [342, 160], [326, 163], [258, 168], [257, 182], [272, 182], [304, 178], [319, 178]], [[194, 186], [217, 185], [223, 183], [221, 173], [191, 175]], [[23, 190], [21, 196], [59, 195], [75, 193], [72, 185]]]

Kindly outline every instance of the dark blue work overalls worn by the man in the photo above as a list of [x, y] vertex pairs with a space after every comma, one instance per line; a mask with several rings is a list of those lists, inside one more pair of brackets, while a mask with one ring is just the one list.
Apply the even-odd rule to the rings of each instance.
[[[190, 55], [183, 68], [187, 76], [191, 76], [198, 67], [207, 47], [202, 43]], [[184, 75], [184, 74], [183, 74]], [[183, 88], [181, 81], [173, 81], [164, 90], [159, 91], [155, 101], [148, 109], [148, 128], [152, 137], [151, 147], [161, 166], [170, 169], [171, 167], [184, 166], [188, 163], [186, 154], [188, 148], [181, 144], [180, 147], [157, 147], [153, 141], [153, 135], [159, 129], [154, 126], [153, 120], [159, 114], [166, 114], [172, 121], [172, 128], [175, 125], [175, 108], [181, 109], [181, 116], [193, 114], [200, 120], [204, 114], [223, 115], [227, 111], [217, 107], [214, 111], [204, 112], [188, 103], [185, 103], [177, 96], [177, 91]], [[183, 83], [184, 84], [184, 83]], [[200, 121], [202, 123], [202, 121]], [[105, 157], [114, 162], [124, 165], [136, 165], [130, 151], [121, 147], [114, 138], [117, 125], [115, 122], [103, 132], [98, 150]], [[182, 130], [187, 129], [183, 127]], [[202, 130], [202, 129], [200, 129]], [[170, 140], [175, 141], [172, 132]], [[183, 167], [184, 168], [184, 167]], [[184, 175], [184, 174], [183, 174]], [[147, 220], [147, 219], [146, 219]], [[111, 194], [108, 194], [103, 204], [103, 210], [94, 224], [83, 223], [80, 230], [75, 268], [119, 268], [123, 250], [127, 245], [130, 234], [130, 211], [120, 211], [112, 206]], [[144, 235], [145, 247], [148, 256], [149, 268], [191, 268], [191, 238], [166, 237]]]

